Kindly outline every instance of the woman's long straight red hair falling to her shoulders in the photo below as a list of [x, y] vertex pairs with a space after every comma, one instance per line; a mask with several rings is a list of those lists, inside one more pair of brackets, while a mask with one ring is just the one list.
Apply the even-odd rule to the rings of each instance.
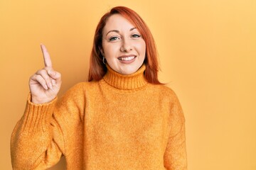
[[107, 23], [107, 18], [116, 13], [119, 13], [129, 22], [131, 22], [139, 30], [139, 33], [141, 33], [142, 38], [146, 42], [146, 56], [144, 60], [144, 64], [146, 64], [146, 69], [144, 72], [146, 80], [152, 84], [161, 84], [157, 78], [159, 64], [157, 60], [154, 38], [143, 19], [135, 11], [132, 11], [132, 9], [124, 6], [117, 6], [112, 8], [110, 12], [105, 13], [105, 15], [102, 16], [100, 22], [97, 25], [95, 30], [95, 37], [93, 40], [92, 52], [90, 55], [90, 70], [88, 81], [98, 81], [102, 79], [102, 77], [104, 77], [107, 72], [107, 67], [102, 62], [103, 56], [100, 52], [100, 49], [102, 49], [102, 31]]

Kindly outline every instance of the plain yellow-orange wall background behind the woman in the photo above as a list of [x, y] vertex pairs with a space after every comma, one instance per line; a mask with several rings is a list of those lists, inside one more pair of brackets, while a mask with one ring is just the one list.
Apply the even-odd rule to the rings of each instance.
[[0, 169], [11, 169], [10, 136], [28, 78], [43, 67], [40, 43], [63, 75], [61, 95], [87, 79], [97, 22], [119, 5], [137, 11], [154, 35], [160, 79], [186, 116], [188, 169], [255, 170], [255, 0], [0, 0]]

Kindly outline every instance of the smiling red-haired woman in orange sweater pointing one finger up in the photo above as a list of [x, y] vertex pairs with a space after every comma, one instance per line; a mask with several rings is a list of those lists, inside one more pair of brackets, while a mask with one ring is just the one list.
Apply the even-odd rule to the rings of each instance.
[[60, 73], [34, 74], [26, 111], [11, 136], [14, 169], [186, 169], [185, 120], [174, 91], [159, 83], [156, 47], [131, 9], [112, 8], [95, 31], [89, 82], [60, 100]]

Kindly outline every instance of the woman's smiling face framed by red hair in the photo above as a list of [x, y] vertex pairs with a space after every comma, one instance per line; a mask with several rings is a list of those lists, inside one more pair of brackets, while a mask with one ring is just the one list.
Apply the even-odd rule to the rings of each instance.
[[114, 14], [103, 28], [101, 52], [114, 71], [133, 74], [144, 62], [146, 43], [132, 23]]

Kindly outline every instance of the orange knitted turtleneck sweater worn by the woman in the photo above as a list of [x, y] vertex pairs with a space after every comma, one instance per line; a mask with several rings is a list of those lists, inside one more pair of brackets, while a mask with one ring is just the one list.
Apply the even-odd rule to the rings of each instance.
[[122, 75], [108, 67], [46, 104], [31, 103], [11, 135], [13, 169], [183, 170], [185, 120], [174, 91], [149, 84], [143, 65]]

